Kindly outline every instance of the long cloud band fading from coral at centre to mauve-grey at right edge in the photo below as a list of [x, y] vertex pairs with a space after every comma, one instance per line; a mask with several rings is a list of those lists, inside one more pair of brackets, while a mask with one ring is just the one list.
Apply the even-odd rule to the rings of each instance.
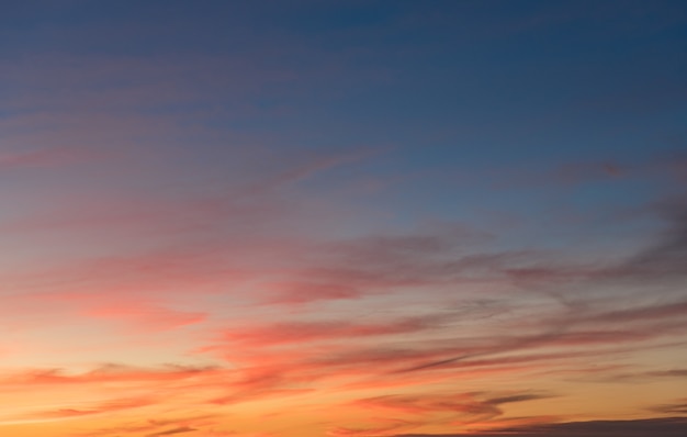
[[[651, 348], [652, 341], [679, 337], [687, 326], [683, 312], [663, 312], [654, 306], [628, 309], [624, 315], [568, 306], [558, 311], [551, 317], [530, 320], [527, 328], [517, 327], [521, 324], [518, 317], [505, 318], [502, 323], [508, 329], [506, 334], [462, 338], [451, 338], [450, 334], [454, 333], [453, 324], [461, 321], [459, 311], [374, 323], [319, 321], [238, 326], [226, 329], [204, 351], [241, 369], [230, 384], [229, 391], [235, 392], [217, 400], [228, 403], [300, 393], [304, 386], [315, 388], [318, 381], [337, 378], [348, 378], [340, 390], [351, 390], [496, 373], [563, 372], [590, 357]], [[488, 318], [484, 323], [497, 325]], [[430, 337], [414, 339], [412, 335]], [[374, 346], [362, 343], [365, 340], [373, 340]]]

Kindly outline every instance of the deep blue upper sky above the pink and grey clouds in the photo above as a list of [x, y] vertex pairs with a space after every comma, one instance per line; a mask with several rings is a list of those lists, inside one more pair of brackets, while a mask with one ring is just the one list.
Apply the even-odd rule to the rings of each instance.
[[[18, 66], [2, 94], [47, 92], [54, 83], [23, 76], [55, 65], [142, 59], [162, 67], [146, 77], [102, 67], [85, 87], [168, 80], [203, 97], [132, 111], [187, 114], [285, 155], [385, 150], [359, 170], [408, 176], [399, 195], [414, 202], [399, 202], [438, 213], [452, 195], [496, 208], [465, 184], [536, 189], [547, 175], [585, 179], [572, 173], [686, 148], [683, 1], [9, 1], [0, 20], [1, 59]], [[65, 102], [80, 99], [59, 83]], [[201, 141], [189, 135], [180, 147]], [[203, 137], [192, 159], [212, 165], [225, 143]], [[595, 187], [582, 206], [650, 189]]]

